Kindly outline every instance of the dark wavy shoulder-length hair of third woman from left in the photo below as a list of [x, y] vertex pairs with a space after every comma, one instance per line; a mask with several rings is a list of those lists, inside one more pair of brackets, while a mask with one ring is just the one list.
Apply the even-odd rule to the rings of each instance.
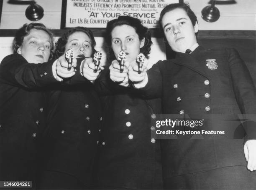
[[151, 41], [151, 33], [148, 30], [148, 28], [144, 27], [141, 24], [141, 20], [139, 20], [138, 18], [133, 18], [129, 16], [119, 16], [117, 19], [111, 20], [107, 24], [105, 40], [108, 44], [108, 60], [112, 61], [116, 59], [113, 49], [111, 47], [111, 32], [115, 27], [121, 25], [129, 25], [133, 27], [136, 33], [138, 34], [140, 41], [143, 40], [143, 38], [145, 38], [145, 44], [143, 47], [141, 47], [140, 52], [143, 53], [146, 58], [148, 58], [148, 54], [150, 53], [151, 50], [151, 45], [153, 44]]

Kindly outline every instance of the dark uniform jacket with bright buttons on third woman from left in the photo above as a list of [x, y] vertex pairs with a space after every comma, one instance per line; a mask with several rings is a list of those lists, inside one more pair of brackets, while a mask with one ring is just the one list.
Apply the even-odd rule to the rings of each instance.
[[[101, 187], [162, 187], [160, 141], [151, 138], [151, 115], [161, 100], [141, 99], [132, 87], [120, 87], [105, 69], [97, 88], [102, 96], [98, 183]], [[106, 95], [108, 94], [108, 95]]]

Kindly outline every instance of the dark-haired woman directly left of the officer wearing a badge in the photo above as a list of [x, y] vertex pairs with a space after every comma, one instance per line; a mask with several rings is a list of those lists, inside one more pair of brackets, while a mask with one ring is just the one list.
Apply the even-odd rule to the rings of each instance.
[[[151, 130], [154, 130], [151, 115], [160, 112], [161, 102], [141, 99], [127, 80], [129, 63], [136, 61], [139, 53], [148, 58], [152, 45], [150, 32], [140, 20], [128, 16], [111, 20], [106, 31], [112, 65], [95, 83], [105, 95], [102, 97], [98, 184], [101, 188], [161, 188], [160, 143], [151, 139]], [[119, 73], [124, 76], [120, 83], [125, 87], [109, 78], [120, 51], [126, 55], [123, 73]]]

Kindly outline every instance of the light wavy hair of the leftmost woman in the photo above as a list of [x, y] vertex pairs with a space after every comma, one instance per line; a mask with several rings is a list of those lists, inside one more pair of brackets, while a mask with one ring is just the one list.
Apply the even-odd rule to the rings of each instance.
[[50, 57], [49, 57], [49, 60], [50, 60], [53, 56], [52, 50], [54, 48], [53, 34], [42, 23], [24, 24], [20, 29], [17, 30], [17, 32], [15, 34], [15, 37], [14, 37], [14, 40], [13, 40], [13, 53], [18, 53], [17, 52], [18, 48], [22, 46], [24, 37], [28, 36], [32, 29], [43, 30], [49, 35], [49, 37], [51, 39], [51, 41], [50, 41], [50, 43], [51, 43], [51, 54], [50, 54]]

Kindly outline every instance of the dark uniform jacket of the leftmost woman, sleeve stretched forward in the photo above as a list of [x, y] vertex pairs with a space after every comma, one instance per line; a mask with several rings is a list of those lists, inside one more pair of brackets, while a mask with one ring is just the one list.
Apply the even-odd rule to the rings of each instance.
[[[52, 62], [28, 63], [18, 54], [0, 64], [0, 181], [31, 181], [45, 128], [42, 86], [57, 80]], [[39, 88], [40, 87], [40, 88]]]

